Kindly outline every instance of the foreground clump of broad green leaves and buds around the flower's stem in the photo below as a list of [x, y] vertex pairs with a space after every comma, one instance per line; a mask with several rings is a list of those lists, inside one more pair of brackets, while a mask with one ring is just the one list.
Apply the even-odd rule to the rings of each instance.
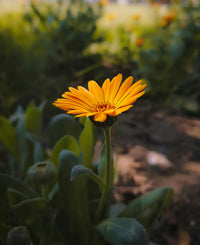
[[[30, 239], [36, 245], [149, 244], [147, 234], [172, 189], [156, 189], [128, 205], [108, 202], [96, 219], [105, 189], [105, 145], [94, 163], [95, 126], [67, 114], [45, 125], [48, 139], [43, 141], [43, 108], [44, 103], [30, 103], [10, 119], [0, 117], [1, 147], [8, 153], [1, 157], [7, 165], [0, 174], [1, 242], [8, 237], [8, 245]], [[23, 236], [28, 243], [22, 243]]]

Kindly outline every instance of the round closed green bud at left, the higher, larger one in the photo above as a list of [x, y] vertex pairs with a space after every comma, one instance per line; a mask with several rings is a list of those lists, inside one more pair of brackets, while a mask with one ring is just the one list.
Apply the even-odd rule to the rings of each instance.
[[56, 167], [48, 161], [38, 162], [29, 168], [28, 176], [35, 184], [46, 185], [55, 179]]

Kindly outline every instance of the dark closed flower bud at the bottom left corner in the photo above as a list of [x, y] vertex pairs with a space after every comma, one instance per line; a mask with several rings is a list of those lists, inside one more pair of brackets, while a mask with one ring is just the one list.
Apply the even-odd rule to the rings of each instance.
[[25, 226], [16, 226], [8, 232], [8, 245], [31, 245], [31, 237]]

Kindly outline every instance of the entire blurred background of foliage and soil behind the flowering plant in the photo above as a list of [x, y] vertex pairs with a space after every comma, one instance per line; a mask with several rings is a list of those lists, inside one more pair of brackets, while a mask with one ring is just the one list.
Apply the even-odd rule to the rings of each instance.
[[[7, 118], [46, 100], [45, 125], [68, 86], [118, 73], [143, 79], [145, 97], [113, 129], [115, 199], [172, 186], [173, 203], [152, 240], [200, 244], [199, 0], [0, 0], [0, 47]], [[6, 158], [2, 146], [0, 153]]]

